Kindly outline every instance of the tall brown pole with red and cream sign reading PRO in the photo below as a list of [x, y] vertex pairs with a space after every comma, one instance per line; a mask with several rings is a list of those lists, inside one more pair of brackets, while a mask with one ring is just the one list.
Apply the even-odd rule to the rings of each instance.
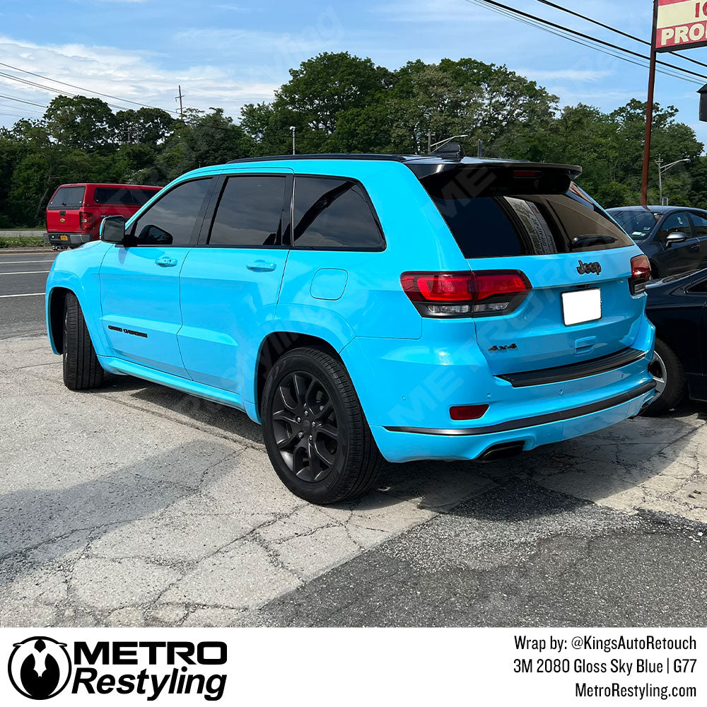
[[643, 142], [643, 182], [641, 204], [648, 205], [650, 134], [653, 129], [655, 62], [658, 52], [707, 47], [707, 2], [704, 0], [653, 0], [653, 34], [650, 40], [648, 107], [645, 112]]

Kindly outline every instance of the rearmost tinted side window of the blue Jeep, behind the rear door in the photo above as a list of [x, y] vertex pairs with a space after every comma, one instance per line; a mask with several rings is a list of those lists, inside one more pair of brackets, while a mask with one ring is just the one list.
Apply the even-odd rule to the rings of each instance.
[[296, 247], [380, 250], [384, 243], [363, 187], [345, 179], [296, 177]]

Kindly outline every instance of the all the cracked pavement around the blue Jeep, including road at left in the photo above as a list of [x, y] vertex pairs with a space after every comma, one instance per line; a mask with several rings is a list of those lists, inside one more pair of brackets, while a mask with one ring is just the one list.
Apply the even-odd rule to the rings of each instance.
[[45, 339], [54, 253], [0, 253], [0, 626], [699, 626], [703, 407], [317, 508], [244, 414]]

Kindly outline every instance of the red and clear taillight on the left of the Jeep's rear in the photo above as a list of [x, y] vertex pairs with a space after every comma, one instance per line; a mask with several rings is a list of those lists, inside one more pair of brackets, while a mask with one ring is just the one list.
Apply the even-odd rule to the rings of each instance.
[[508, 314], [531, 289], [518, 270], [406, 272], [400, 282], [423, 317]]

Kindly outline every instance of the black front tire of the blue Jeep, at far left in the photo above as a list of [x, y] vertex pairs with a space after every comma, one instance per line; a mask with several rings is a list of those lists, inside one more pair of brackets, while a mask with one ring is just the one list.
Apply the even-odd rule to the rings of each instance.
[[64, 385], [69, 390], [90, 390], [103, 385], [105, 371], [98, 363], [81, 305], [73, 292], [64, 300]]

